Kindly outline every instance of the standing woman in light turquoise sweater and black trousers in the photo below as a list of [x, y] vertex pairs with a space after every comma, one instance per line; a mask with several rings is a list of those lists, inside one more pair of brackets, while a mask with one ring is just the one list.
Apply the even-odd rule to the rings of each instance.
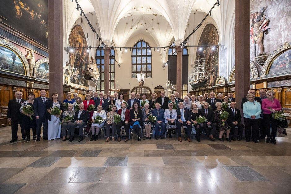
[[245, 141], [250, 142], [250, 134], [252, 130], [253, 142], [258, 143], [258, 127], [260, 122], [260, 114], [262, 112], [261, 104], [254, 101], [254, 94], [246, 95], [248, 100], [243, 104], [243, 113], [245, 121]]

